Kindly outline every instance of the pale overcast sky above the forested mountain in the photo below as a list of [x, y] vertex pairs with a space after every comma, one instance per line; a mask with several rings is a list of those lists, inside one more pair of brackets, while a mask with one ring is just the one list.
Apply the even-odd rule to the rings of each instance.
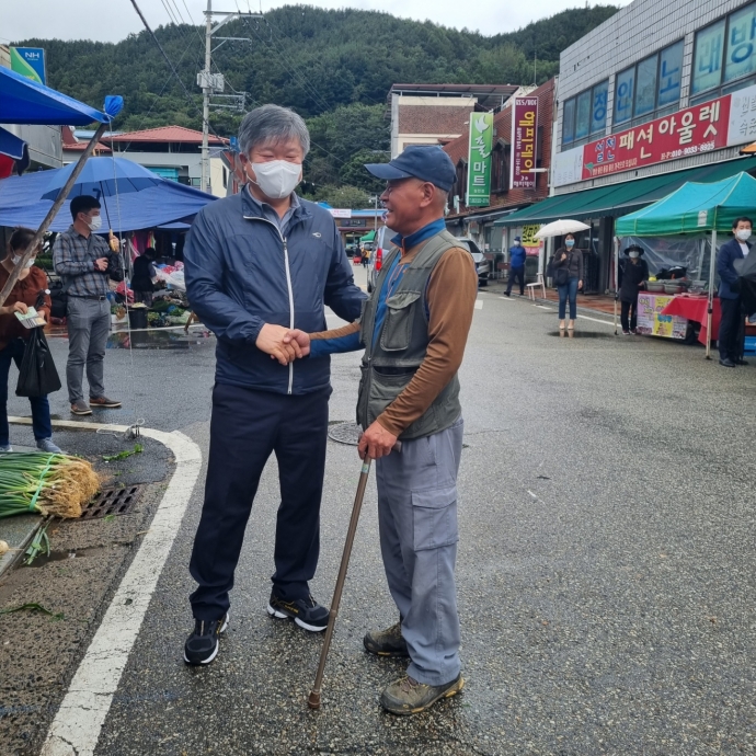
[[[630, 0], [604, 0], [627, 5]], [[249, 0], [253, 11], [261, 10], [261, 0]], [[152, 27], [171, 23], [165, 7], [175, 18], [199, 24], [207, 0], [137, 0], [137, 4]], [[262, 11], [279, 5], [295, 4], [282, 0], [262, 0]], [[512, 32], [530, 21], [582, 7], [585, 0], [314, 0], [319, 8], [359, 8], [380, 10], [417, 21], [431, 20], [445, 26], [468, 27], [483, 34]], [[596, 4], [591, 2], [591, 4]], [[248, 0], [214, 0], [213, 7], [221, 11], [247, 10]], [[0, 0], [0, 42], [20, 39], [60, 38], [117, 42], [142, 25], [130, 0]]]

